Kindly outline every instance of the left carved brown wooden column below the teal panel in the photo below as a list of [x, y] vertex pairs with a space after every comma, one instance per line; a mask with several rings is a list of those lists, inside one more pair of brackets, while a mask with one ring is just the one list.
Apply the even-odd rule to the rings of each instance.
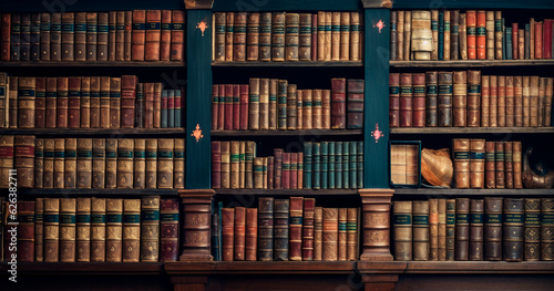
[[179, 190], [183, 204], [183, 254], [179, 261], [212, 261], [211, 226], [213, 189]]

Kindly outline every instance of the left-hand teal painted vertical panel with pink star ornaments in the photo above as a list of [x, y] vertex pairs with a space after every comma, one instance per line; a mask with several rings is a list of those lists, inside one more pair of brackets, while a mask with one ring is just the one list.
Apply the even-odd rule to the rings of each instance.
[[[212, 29], [197, 29], [201, 21], [212, 24], [209, 10], [186, 11], [186, 188], [209, 189], [212, 173]], [[199, 142], [191, 134], [199, 125]]]

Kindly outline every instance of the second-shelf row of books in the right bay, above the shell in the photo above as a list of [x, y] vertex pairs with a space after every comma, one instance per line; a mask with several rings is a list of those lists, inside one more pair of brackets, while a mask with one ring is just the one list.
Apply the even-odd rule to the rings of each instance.
[[391, 73], [391, 127], [552, 126], [554, 79], [481, 71]]

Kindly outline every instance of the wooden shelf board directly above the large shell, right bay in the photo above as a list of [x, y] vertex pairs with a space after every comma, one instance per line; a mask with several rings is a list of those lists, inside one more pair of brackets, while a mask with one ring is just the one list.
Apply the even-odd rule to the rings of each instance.
[[391, 134], [554, 134], [554, 127], [392, 127]]

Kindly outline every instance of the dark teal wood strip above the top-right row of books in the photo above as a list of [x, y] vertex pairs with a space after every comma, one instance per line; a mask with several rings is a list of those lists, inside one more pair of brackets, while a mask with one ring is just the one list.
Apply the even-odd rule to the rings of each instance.
[[396, 0], [393, 9], [554, 9], [553, 0]]

